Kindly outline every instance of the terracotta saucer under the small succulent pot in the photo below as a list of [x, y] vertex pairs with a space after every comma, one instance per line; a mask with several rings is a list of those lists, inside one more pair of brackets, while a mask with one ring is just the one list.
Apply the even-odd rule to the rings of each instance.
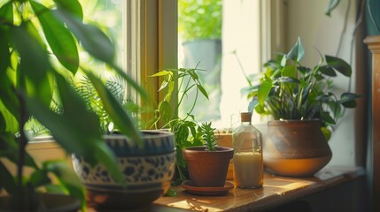
[[193, 186], [190, 180], [184, 181], [181, 185], [188, 193], [204, 196], [223, 195], [234, 188], [234, 184], [226, 181], [223, 187], [198, 187]]

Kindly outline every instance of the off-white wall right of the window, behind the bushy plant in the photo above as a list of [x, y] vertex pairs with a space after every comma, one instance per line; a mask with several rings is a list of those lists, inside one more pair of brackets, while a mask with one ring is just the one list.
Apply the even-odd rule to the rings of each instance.
[[[341, 37], [344, 28], [345, 11], [351, 1], [347, 28]], [[356, 1], [340, 1], [331, 17], [324, 15], [329, 0], [287, 0], [287, 27], [286, 41], [288, 49], [300, 36], [306, 56], [303, 64], [314, 66], [318, 63], [318, 49], [322, 54], [328, 54], [350, 61], [351, 39], [355, 22]], [[342, 48], [337, 54], [339, 39], [343, 39]], [[353, 54], [354, 57], [354, 54]], [[354, 68], [354, 61], [351, 63]], [[355, 70], [352, 76], [352, 92], [354, 91]], [[336, 80], [337, 91], [347, 91], [350, 81], [345, 77]], [[353, 110], [346, 110], [345, 117], [340, 119], [337, 129], [329, 143], [333, 156], [329, 165], [354, 165], [354, 125]]]

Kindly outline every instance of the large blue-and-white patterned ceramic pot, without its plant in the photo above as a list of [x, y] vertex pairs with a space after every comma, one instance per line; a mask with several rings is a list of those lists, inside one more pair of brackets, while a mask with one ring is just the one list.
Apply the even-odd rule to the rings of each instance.
[[89, 201], [97, 207], [142, 208], [167, 192], [174, 175], [174, 134], [164, 131], [142, 131], [143, 148], [123, 135], [105, 135], [104, 139], [117, 157], [127, 187], [115, 182], [101, 164], [91, 167], [83, 158], [73, 155], [76, 174], [86, 186]]

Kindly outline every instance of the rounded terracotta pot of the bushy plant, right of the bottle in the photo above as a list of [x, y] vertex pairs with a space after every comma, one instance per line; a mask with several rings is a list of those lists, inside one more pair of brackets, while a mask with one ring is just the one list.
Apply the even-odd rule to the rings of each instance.
[[269, 121], [263, 150], [267, 170], [288, 177], [313, 176], [332, 156], [317, 119]]

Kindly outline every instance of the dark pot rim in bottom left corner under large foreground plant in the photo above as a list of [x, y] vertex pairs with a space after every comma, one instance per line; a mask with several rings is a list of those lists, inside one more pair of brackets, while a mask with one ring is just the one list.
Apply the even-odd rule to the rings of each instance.
[[[0, 197], [0, 211], [19, 211], [9, 208], [9, 196]], [[41, 208], [38, 211], [46, 212], [76, 212], [81, 207], [81, 202], [74, 197], [57, 193], [41, 193], [40, 199]], [[23, 210], [26, 211], [26, 210]], [[28, 210], [27, 210], [28, 211]], [[27, 212], [26, 211], [26, 212]], [[30, 210], [32, 211], [32, 210]], [[33, 210], [35, 211], [35, 210]]]

